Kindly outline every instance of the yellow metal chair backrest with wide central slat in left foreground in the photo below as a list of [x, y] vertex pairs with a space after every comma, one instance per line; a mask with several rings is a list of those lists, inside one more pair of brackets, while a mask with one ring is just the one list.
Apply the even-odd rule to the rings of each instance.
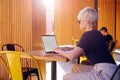
[[39, 67], [39, 63], [30, 54], [23, 53], [23, 52], [15, 52], [15, 51], [1, 51], [0, 56], [1, 55], [4, 55], [5, 58], [0, 57], [0, 60], [4, 64], [12, 80], [23, 80], [23, 74], [22, 74], [21, 62], [20, 62], [21, 57], [30, 58], [34, 61], [38, 69], [40, 80], [43, 80], [42, 75], [41, 75], [41, 70]]

